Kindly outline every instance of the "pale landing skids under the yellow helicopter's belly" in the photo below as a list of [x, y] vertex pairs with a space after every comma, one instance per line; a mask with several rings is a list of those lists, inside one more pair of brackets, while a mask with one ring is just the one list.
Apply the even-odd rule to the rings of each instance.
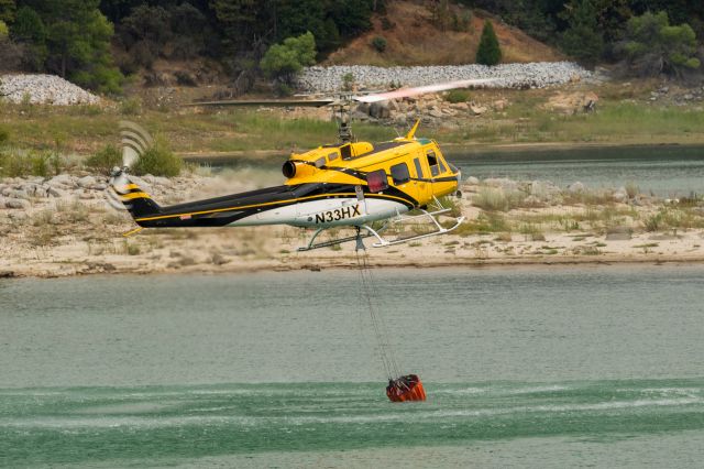
[[[329, 241], [323, 241], [323, 242], [319, 242], [319, 243], [315, 243], [316, 238], [318, 237], [318, 234], [320, 234], [321, 232], [323, 232], [327, 228], [320, 228], [318, 229], [312, 238], [310, 238], [310, 241], [308, 242], [308, 246], [306, 247], [301, 247], [298, 248], [298, 252], [304, 252], [304, 251], [310, 251], [312, 249], [318, 249], [318, 248], [329, 248], [331, 246], [337, 246], [337, 244], [341, 244], [343, 242], [349, 242], [349, 241], [358, 241], [358, 247], [356, 249], [364, 249], [364, 244], [362, 243], [362, 240], [364, 238], [370, 238], [370, 237], [374, 237], [376, 238], [376, 240], [378, 242], [375, 242], [374, 244], [372, 244], [373, 248], [384, 248], [387, 246], [394, 246], [394, 244], [402, 244], [405, 242], [410, 242], [410, 241], [415, 241], [418, 239], [422, 239], [422, 238], [430, 238], [433, 236], [440, 236], [440, 234], [444, 234], [448, 233], [454, 229], [457, 229], [462, 221], [464, 221], [464, 217], [459, 217], [455, 218], [455, 223], [450, 227], [450, 228], [444, 228], [442, 225], [440, 225], [440, 222], [438, 221], [438, 219], [436, 218], [439, 215], [443, 215], [443, 214], [448, 214], [449, 211], [451, 211], [451, 209], [449, 208], [444, 208], [442, 207], [442, 205], [440, 204], [440, 201], [436, 198], [435, 199], [438, 209], [435, 211], [427, 211], [427, 210], [420, 210], [421, 214], [420, 215], [414, 215], [410, 217], [405, 217], [405, 216], [398, 216], [396, 218], [393, 218], [392, 220], [389, 220], [388, 222], [386, 222], [382, 228], [380, 228], [378, 230], [374, 230], [373, 228], [366, 226], [366, 225], [360, 225], [356, 228], [358, 233], [354, 236], [350, 236], [346, 238], [339, 238], [339, 239], [332, 239]], [[429, 221], [432, 221], [432, 223], [436, 226], [436, 230], [428, 232], [428, 233], [422, 233], [422, 234], [416, 234], [416, 236], [410, 236], [410, 237], [406, 237], [406, 238], [399, 238], [399, 239], [394, 239], [394, 240], [387, 240], [384, 237], [382, 237], [380, 233], [382, 231], [384, 231], [386, 228], [388, 228], [389, 225], [394, 225], [394, 223], [403, 223], [403, 222], [407, 222], [407, 221], [413, 221], [413, 220], [418, 220], [418, 219], [429, 219]], [[362, 230], [365, 230], [366, 233], [362, 234]]]

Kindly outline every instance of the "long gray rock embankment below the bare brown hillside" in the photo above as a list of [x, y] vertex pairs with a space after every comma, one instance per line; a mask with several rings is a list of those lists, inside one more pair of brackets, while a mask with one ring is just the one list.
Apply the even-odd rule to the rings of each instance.
[[[544, 88], [592, 78], [592, 73], [572, 62], [540, 62], [530, 64], [446, 65], [428, 67], [373, 67], [367, 65], [336, 65], [308, 67], [298, 77], [298, 87], [310, 92], [340, 91], [344, 77], [354, 77], [360, 89], [387, 89], [395, 86], [424, 86], [474, 78], [493, 78], [494, 88]], [[490, 86], [486, 86], [490, 87]]]

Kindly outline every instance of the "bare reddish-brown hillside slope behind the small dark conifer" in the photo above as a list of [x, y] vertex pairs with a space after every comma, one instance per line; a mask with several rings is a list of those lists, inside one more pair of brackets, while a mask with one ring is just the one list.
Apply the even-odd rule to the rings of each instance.
[[[460, 7], [452, 7], [460, 12]], [[486, 13], [475, 11], [466, 32], [440, 31], [432, 24], [428, 9], [414, 1], [389, 2], [387, 18], [392, 29], [384, 30], [382, 17], [373, 18], [373, 29], [331, 54], [322, 65], [453, 65], [473, 64]], [[553, 62], [564, 56], [518, 29], [492, 18], [505, 63]], [[386, 51], [376, 52], [371, 42], [387, 41]]]

